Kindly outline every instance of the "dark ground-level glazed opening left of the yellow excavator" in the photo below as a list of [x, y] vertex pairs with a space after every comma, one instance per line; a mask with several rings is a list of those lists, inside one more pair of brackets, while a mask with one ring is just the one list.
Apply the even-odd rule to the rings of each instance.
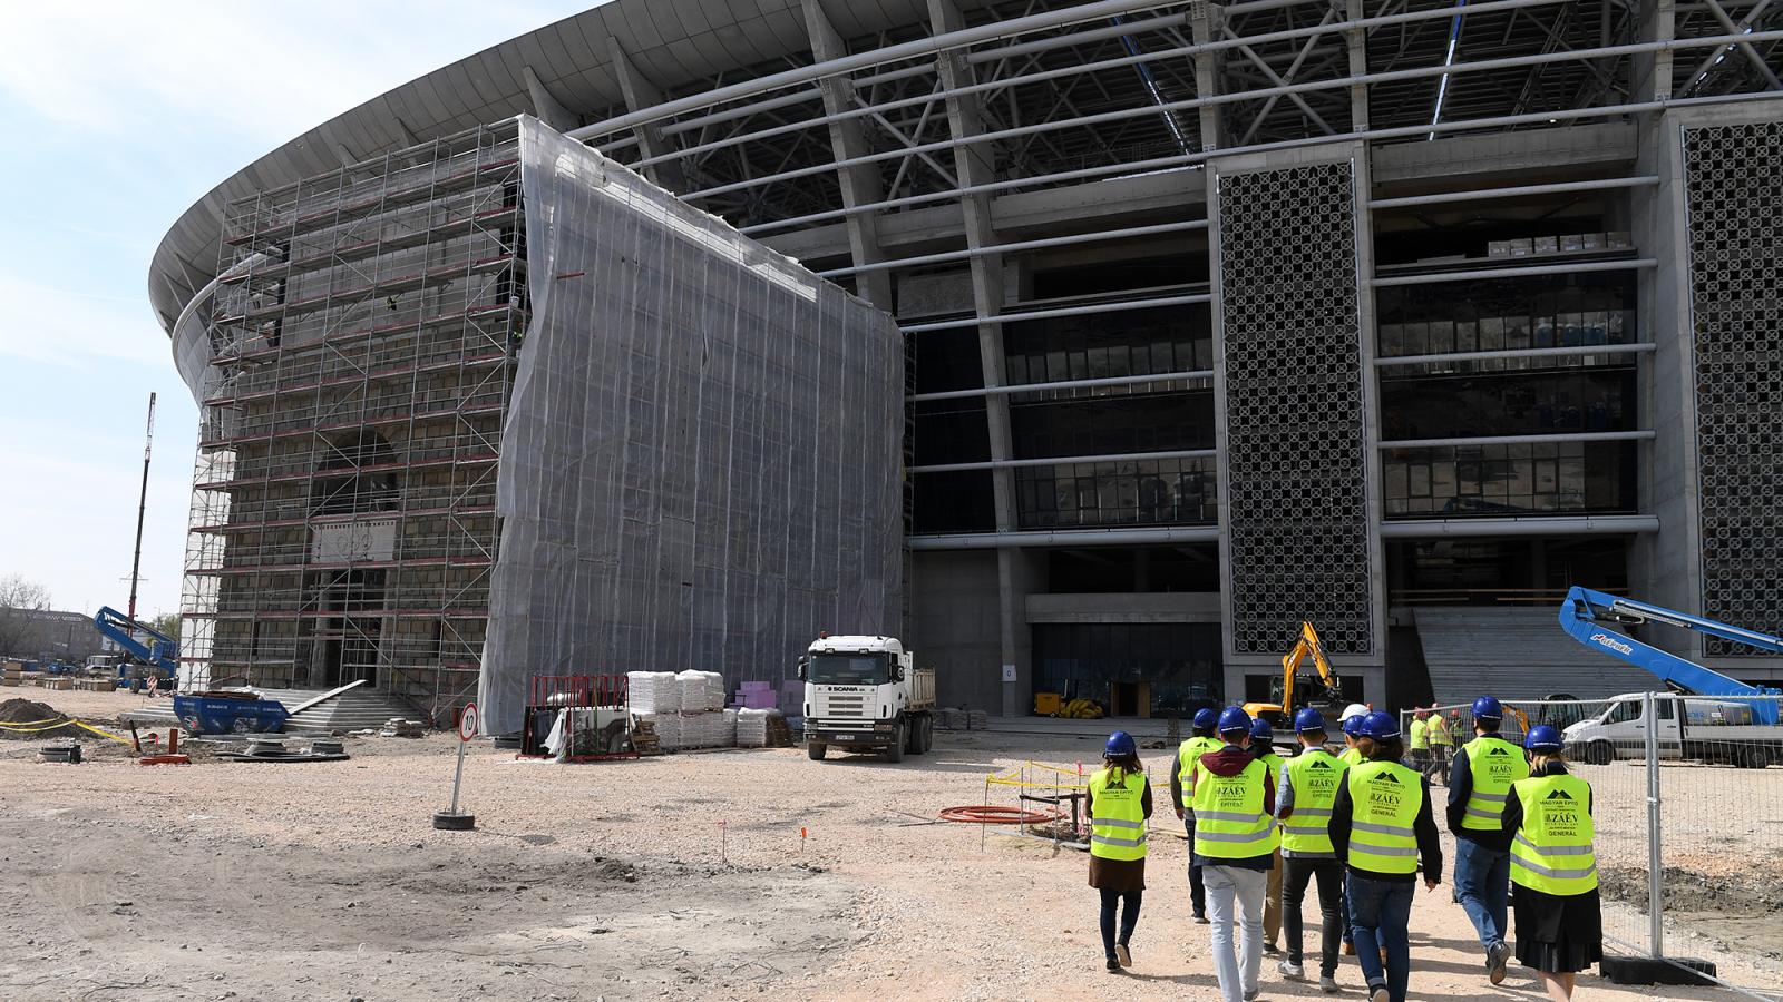
[[1118, 715], [1189, 719], [1223, 704], [1220, 624], [1034, 626], [1034, 692], [1095, 699]]

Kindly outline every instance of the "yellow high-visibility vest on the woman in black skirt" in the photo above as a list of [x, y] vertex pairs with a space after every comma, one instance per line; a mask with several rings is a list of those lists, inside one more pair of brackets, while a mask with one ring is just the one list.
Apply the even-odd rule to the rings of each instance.
[[1512, 783], [1510, 792], [1523, 806], [1523, 827], [1510, 840], [1510, 883], [1551, 895], [1596, 888], [1590, 784], [1576, 776], [1539, 776]]

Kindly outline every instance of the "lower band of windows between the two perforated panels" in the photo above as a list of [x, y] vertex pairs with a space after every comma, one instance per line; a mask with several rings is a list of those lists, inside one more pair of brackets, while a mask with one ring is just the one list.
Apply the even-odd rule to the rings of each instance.
[[1387, 519], [1635, 512], [1635, 442], [1393, 449]]

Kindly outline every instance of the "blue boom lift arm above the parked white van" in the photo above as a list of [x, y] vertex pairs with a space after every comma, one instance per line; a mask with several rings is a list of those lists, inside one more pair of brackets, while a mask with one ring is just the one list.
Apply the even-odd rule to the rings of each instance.
[[[1783, 638], [1779, 637], [1753, 633], [1751, 629], [1740, 629], [1738, 626], [1728, 626], [1712, 619], [1701, 619], [1676, 610], [1637, 603], [1633, 599], [1592, 592], [1590, 588], [1580, 588], [1578, 585], [1569, 588], [1565, 599], [1560, 601], [1560, 628], [1571, 633], [1574, 640], [1594, 651], [1621, 658], [1637, 669], [1653, 672], [1667, 686], [1687, 695], [1783, 695], [1783, 690], [1746, 685], [1713, 669], [1705, 669], [1696, 661], [1687, 661], [1676, 654], [1660, 651], [1651, 644], [1642, 644], [1626, 633], [1606, 629], [1603, 626], [1633, 626], [1640, 622], [1664, 622], [1665, 626], [1676, 626], [1706, 637], [1721, 637], [1722, 640], [1733, 640], [1737, 644], [1758, 647], [1760, 651], [1783, 654]], [[1753, 701], [1753, 717], [1760, 724], [1776, 724], [1778, 701]]]

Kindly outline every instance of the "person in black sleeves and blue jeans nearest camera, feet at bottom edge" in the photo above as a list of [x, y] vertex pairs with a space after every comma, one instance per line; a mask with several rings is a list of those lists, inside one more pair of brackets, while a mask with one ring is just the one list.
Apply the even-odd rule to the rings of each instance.
[[1364, 761], [1350, 767], [1332, 801], [1332, 850], [1348, 865], [1344, 900], [1368, 998], [1405, 1002], [1417, 870], [1425, 891], [1435, 890], [1442, 845], [1430, 813], [1430, 781], [1400, 765], [1405, 743], [1393, 713], [1364, 717], [1357, 747]]

